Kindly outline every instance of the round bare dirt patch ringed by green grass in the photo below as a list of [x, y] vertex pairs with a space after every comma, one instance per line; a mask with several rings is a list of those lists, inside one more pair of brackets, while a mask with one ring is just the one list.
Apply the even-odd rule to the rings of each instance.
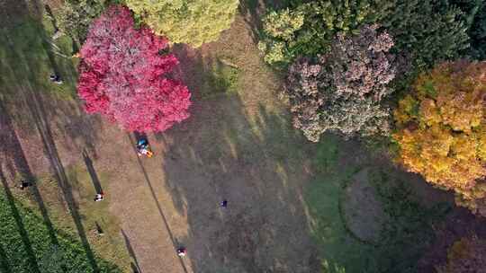
[[387, 215], [368, 181], [368, 169], [356, 173], [341, 198], [347, 229], [364, 242], [378, 244]]

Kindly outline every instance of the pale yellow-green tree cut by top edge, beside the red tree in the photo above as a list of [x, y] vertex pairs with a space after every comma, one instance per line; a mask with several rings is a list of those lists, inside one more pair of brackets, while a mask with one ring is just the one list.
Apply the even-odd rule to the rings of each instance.
[[157, 34], [194, 48], [218, 40], [238, 8], [238, 0], [126, 0], [126, 4]]

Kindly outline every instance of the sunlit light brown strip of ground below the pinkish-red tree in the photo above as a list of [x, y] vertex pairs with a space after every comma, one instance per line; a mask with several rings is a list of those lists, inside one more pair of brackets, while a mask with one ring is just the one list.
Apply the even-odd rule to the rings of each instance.
[[[94, 169], [110, 173], [106, 192], [112, 214], [121, 222], [130, 256], [140, 272], [192, 273], [190, 263], [175, 254], [187, 223], [165, 190], [160, 168], [161, 151], [152, 158], [139, 157], [135, 137], [112, 124], [101, 134]], [[117, 137], [113, 137], [117, 136]]]

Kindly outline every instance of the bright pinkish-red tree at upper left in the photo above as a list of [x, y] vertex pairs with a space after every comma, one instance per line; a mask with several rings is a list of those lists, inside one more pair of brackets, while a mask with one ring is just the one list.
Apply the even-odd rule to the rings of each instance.
[[189, 117], [191, 93], [166, 78], [178, 64], [163, 54], [167, 40], [114, 5], [91, 25], [81, 48], [77, 92], [88, 113], [101, 113], [131, 131], [164, 131]]

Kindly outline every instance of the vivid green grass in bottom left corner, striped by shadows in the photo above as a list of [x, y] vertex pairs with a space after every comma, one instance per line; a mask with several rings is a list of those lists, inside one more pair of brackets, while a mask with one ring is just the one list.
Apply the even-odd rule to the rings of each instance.
[[[56, 228], [56, 246], [40, 216], [15, 200], [7, 190], [0, 192], [0, 219], [2, 272], [61, 272], [58, 271], [61, 266], [65, 272], [93, 272], [76, 237]], [[112, 262], [96, 254], [95, 260], [101, 272], [121, 272]]]

